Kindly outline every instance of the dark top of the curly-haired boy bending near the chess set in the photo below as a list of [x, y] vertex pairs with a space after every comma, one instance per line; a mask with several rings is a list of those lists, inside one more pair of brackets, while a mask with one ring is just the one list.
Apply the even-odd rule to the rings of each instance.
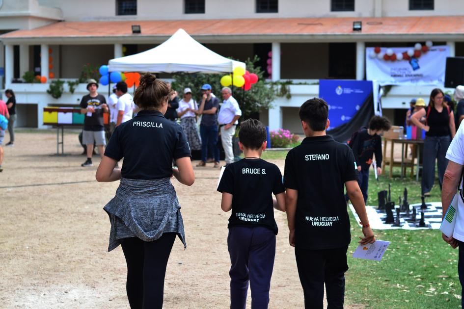
[[363, 170], [368, 170], [374, 153], [377, 166], [382, 166], [382, 138], [377, 134], [370, 135], [367, 129], [362, 129], [353, 142], [356, 164], [360, 165]]

